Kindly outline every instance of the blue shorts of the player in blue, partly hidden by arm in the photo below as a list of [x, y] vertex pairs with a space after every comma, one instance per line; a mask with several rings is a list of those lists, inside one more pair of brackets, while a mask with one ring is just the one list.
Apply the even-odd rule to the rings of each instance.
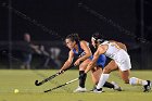
[[[90, 56], [89, 59], [92, 60], [93, 56]], [[104, 54], [101, 54], [97, 61], [97, 66], [101, 66], [103, 68], [105, 65], [105, 61], [106, 61], [106, 56]]]

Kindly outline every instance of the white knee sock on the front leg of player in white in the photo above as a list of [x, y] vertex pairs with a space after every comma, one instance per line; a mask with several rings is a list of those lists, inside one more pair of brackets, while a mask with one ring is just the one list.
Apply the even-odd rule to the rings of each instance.
[[101, 74], [99, 83], [97, 85], [97, 89], [102, 88], [105, 81], [109, 79], [109, 77], [110, 77], [110, 74]]

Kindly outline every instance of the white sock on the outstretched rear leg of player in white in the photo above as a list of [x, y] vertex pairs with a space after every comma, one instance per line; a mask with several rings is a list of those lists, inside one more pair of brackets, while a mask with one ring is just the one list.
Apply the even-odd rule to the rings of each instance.
[[147, 80], [143, 80], [143, 79], [139, 79], [137, 77], [131, 77], [129, 79], [129, 84], [130, 85], [142, 85], [142, 86], [144, 86], [144, 85], [148, 85], [148, 81]]

